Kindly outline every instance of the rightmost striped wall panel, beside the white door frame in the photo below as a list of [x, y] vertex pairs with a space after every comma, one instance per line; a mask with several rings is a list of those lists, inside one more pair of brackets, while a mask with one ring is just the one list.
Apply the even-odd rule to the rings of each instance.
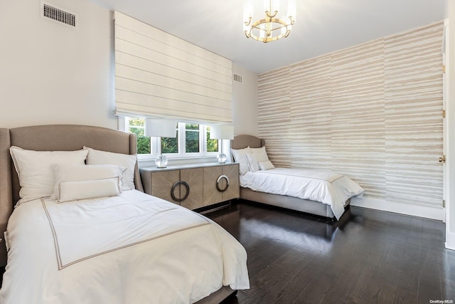
[[435, 23], [385, 39], [387, 201], [442, 204], [443, 28]]

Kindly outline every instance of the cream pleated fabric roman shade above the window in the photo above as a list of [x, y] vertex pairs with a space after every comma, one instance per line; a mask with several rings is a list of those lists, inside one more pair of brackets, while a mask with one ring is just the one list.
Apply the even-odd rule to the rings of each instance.
[[116, 115], [232, 123], [232, 62], [115, 11]]

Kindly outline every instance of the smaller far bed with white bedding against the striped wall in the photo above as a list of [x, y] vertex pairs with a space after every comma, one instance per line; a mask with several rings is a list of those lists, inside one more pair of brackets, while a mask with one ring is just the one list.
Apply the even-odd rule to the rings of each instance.
[[268, 162], [264, 140], [258, 137], [235, 136], [231, 152], [240, 163], [242, 199], [340, 219], [350, 198], [363, 196], [362, 187], [335, 172], [275, 168]]

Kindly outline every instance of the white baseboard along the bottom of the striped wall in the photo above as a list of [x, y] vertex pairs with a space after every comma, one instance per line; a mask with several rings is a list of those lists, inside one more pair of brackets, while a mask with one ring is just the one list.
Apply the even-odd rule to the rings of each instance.
[[382, 199], [357, 199], [353, 197], [350, 199], [351, 206], [359, 206], [368, 209], [376, 209], [381, 211], [389, 211], [398, 214], [406, 214], [412, 216], [424, 217], [426, 219], [444, 220], [444, 209], [432, 208], [427, 206], [416, 206], [402, 203], [391, 203]]

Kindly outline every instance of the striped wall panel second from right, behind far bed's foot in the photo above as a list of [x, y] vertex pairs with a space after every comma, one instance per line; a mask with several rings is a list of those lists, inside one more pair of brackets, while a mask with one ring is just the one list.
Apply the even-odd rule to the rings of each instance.
[[384, 40], [331, 55], [333, 171], [385, 199]]

